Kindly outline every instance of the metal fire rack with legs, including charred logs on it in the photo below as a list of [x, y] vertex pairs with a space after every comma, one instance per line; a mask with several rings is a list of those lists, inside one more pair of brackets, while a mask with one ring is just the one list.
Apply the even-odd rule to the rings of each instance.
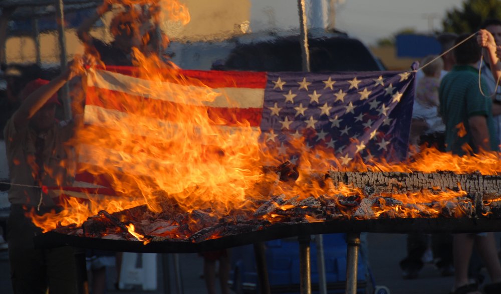
[[[268, 168], [267, 172], [275, 174], [279, 182], [296, 180], [298, 174], [295, 166], [289, 162], [277, 168]], [[88, 219], [82, 225], [82, 232], [77, 233], [76, 227], [61, 227], [54, 231], [39, 235], [35, 238], [36, 245], [40, 248], [71, 245], [75, 247], [95, 248], [102, 250], [143, 252], [143, 253], [194, 253], [211, 250], [220, 250], [247, 244], [254, 244], [256, 253], [256, 265], [261, 293], [270, 293], [267, 265], [265, 259], [264, 242], [297, 237], [299, 241], [299, 265], [300, 265], [300, 290], [301, 293], [312, 292], [311, 268], [310, 268], [310, 241], [311, 235], [328, 233], [347, 233], [347, 271], [346, 293], [357, 292], [358, 253], [360, 246], [360, 233], [466, 233], [498, 231], [501, 227], [501, 175], [481, 175], [480, 173], [454, 174], [451, 172], [435, 173], [402, 173], [402, 172], [337, 172], [331, 171], [325, 176], [311, 174], [312, 179], [325, 181], [330, 179], [334, 185], [341, 183], [359, 188], [365, 197], [337, 195], [339, 204], [329, 204], [324, 196], [319, 196], [318, 201], [309, 197], [294, 205], [292, 219], [284, 219], [277, 223], [262, 222], [261, 217], [270, 213], [278, 213], [276, 209], [287, 200], [284, 196], [271, 196], [270, 200], [262, 205], [252, 215], [253, 224], [248, 226], [245, 219], [230, 218], [219, 220], [208, 218], [203, 228], [194, 231], [180, 231], [178, 234], [186, 235], [186, 239], [172, 239], [166, 237], [145, 236], [150, 241], [144, 244], [136, 238], [129, 236], [125, 224], [117, 215], [125, 216], [126, 219], [144, 215], [146, 206], [138, 206], [130, 210], [118, 212], [117, 215], [101, 211], [96, 218]], [[278, 181], [280, 178], [280, 181]], [[272, 185], [272, 186], [273, 186]], [[442, 202], [438, 200], [432, 203], [420, 205], [405, 204], [385, 195], [401, 193], [419, 193], [422, 189], [432, 191], [433, 187], [455, 191], [458, 187], [468, 191], [467, 195], [455, 197], [455, 201]], [[273, 189], [273, 188], [272, 188]], [[440, 193], [440, 191], [434, 191]], [[342, 200], [341, 200], [342, 199]], [[356, 199], [356, 200], [354, 200]], [[343, 202], [344, 201], [344, 202]], [[418, 217], [406, 217], [405, 214], [396, 214], [388, 211], [376, 216], [372, 207], [387, 204], [390, 207], [400, 207], [419, 211]], [[327, 206], [323, 206], [327, 205]], [[421, 211], [419, 206], [424, 207]], [[316, 208], [315, 208], [316, 207]], [[316, 221], [309, 222], [302, 214], [307, 215], [315, 208], [315, 213], [321, 212]], [[440, 209], [435, 215], [428, 213], [428, 208]], [[325, 210], [322, 210], [325, 209]], [[337, 209], [340, 209], [339, 211]], [[351, 213], [348, 213], [351, 212]], [[342, 214], [340, 214], [342, 213]], [[202, 211], [191, 212], [198, 219], [203, 219]], [[350, 217], [348, 216], [350, 215]], [[130, 217], [128, 217], [130, 216]], [[169, 216], [167, 216], [169, 217]], [[184, 219], [184, 216], [183, 216]], [[95, 233], [101, 231], [102, 221], [110, 222], [113, 228], [120, 228], [123, 233], [121, 238], [125, 240], [106, 239], [106, 234]], [[254, 221], [256, 221], [254, 223]], [[240, 225], [244, 225], [242, 229]], [[106, 227], [106, 225], [104, 226]], [[249, 228], [250, 227], [250, 228]], [[220, 232], [220, 237], [214, 238], [214, 232]], [[77, 234], [79, 236], [77, 236]], [[93, 238], [92, 236], [99, 236]]]

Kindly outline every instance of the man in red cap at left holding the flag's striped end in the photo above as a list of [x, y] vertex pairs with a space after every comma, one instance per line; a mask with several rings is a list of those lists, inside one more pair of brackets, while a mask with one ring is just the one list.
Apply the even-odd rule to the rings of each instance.
[[[88, 60], [89, 61], [89, 60]], [[71, 185], [72, 160], [65, 145], [77, 120], [56, 122], [57, 91], [83, 73], [83, 60], [69, 64], [52, 81], [37, 79], [21, 93], [23, 103], [8, 121], [4, 133], [10, 170], [11, 211], [8, 242], [11, 278], [15, 293], [77, 293], [73, 248], [36, 249], [33, 238], [41, 233], [27, 213], [42, 215], [57, 210], [47, 186]]]

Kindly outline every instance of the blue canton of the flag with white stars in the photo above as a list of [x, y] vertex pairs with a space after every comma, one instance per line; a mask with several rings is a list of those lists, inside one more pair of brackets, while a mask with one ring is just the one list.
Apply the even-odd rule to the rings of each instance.
[[355, 156], [402, 159], [408, 146], [414, 72], [269, 73], [261, 139], [294, 160], [293, 138]]

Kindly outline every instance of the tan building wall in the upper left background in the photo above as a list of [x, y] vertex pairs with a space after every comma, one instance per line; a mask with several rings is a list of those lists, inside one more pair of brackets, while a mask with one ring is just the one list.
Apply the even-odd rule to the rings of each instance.
[[[162, 26], [170, 39], [179, 42], [221, 41], [240, 35], [248, 29], [250, 20], [250, 1], [248, 0], [182, 0], [191, 16], [186, 26], [167, 22]], [[107, 27], [112, 14], [104, 16], [104, 28], [98, 28], [91, 34], [99, 39], [111, 41]], [[66, 30], [68, 57], [82, 54], [83, 45], [77, 38], [76, 30]], [[44, 64], [59, 63], [57, 32], [40, 35], [40, 55]], [[10, 37], [6, 42], [7, 63], [35, 63], [37, 51], [35, 41], [30, 37]]]

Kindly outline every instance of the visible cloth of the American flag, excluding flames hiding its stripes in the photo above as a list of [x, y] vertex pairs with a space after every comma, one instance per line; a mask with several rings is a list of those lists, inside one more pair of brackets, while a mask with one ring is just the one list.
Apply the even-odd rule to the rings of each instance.
[[[117, 119], [137, 115], [151, 116], [148, 118], [168, 126], [168, 117], [161, 111], [155, 114], [126, 111], [128, 100], [134, 99], [156, 103], [158, 109], [172, 108], [178, 103], [168, 93], [151, 96], [147, 90], [151, 81], [138, 78], [134, 72], [134, 68], [109, 67], [88, 75], [86, 125], [113, 129], [117, 128]], [[183, 78], [165, 81], [168, 88], [174, 85], [189, 87], [191, 91], [199, 88], [203, 92], [203, 87], [208, 87], [221, 93], [221, 97], [204, 103], [214, 121], [223, 121], [221, 126], [228, 129], [245, 124], [261, 131], [260, 140], [266, 148], [292, 162], [299, 158], [293, 148], [293, 140], [298, 138], [304, 139], [303, 152], [322, 149], [334, 154], [342, 165], [348, 165], [356, 157], [365, 160], [373, 157], [402, 159], [406, 155], [414, 91], [413, 71], [266, 73], [181, 70], [179, 76]], [[197, 82], [190, 84], [191, 79]], [[188, 84], [176, 84], [179, 80], [188, 81]], [[147, 129], [140, 129], [137, 125], [126, 128], [148, 135], [145, 134]], [[80, 164], [92, 165], [97, 149], [103, 151], [106, 146], [80, 146]], [[120, 166], [123, 155], [116, 155], [112, 150], [107, 152], [110, 166], [127, 173], [127, 167]], [[75, 187], [63, 190], [78, 197], [84, 192], [79, 190], [81, 188], [89, 193], [110, 194], [109, 188], [112, 187], [105, 182], [97, 179], [95, 174], [80, 170]]]

